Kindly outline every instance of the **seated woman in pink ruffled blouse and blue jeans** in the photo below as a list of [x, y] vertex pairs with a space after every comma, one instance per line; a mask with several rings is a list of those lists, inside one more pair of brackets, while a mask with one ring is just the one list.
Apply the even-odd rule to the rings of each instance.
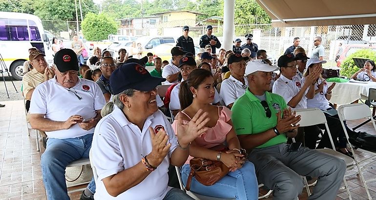
[[[187, 162], [183, 165], [182, 179], [186, 184], [190, 172], [189, 160], [201, 157], [209, 160], [220, 160], [230, 168], [230, 172], [211, 186], [205, 186], [192, 178], [190, 190], [211, 197], [235, 198], [236, 200], [257, 200], [258, 184], [254, 166], [243, 159], [240, 153], [240, 143], [232, 127], [231, 111], [225, 106], [214, 106], [214, 80], [211, 73], [205, 69], [195, 69], [188, 79], [180, 86], [179, 100], [182, 111], [176, 116], [172, 127], [176, 133], [178, 123], [188, 123], [202, 109], [208, 112], [210, 121], [208, 131], [196, 138], [190, 145]], [[218, 152], [209, 148], [226, 144], [227, 152]]]

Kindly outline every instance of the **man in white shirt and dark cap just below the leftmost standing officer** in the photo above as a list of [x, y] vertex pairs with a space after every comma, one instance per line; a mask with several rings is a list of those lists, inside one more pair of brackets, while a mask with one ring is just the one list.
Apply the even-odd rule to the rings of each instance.
[[170, 85], [178, 83], [178, 76], [180, 73], [179, 70], [179, 61], [186, 54], [186, 51], [183, 51], [183, 48], [180, 46], [175, 46], [171, 49], [172, 60], [171, 63], [167, 64], [162, 71], [162, 77], [166, 79], [163, 82], [164, 85]]

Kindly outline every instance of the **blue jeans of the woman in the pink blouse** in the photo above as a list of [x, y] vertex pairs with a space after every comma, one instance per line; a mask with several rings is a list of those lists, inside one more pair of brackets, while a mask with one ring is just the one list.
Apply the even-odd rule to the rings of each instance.
[[[183, 165], [181, 174], [184, 184], [187, 183], [189, 172], [189, 164]], [[242, 168], [234, 172], [229, 172], [225, 177], [211, 186], [203, 185], [193, 177], [190, 190], [210, 197], [257, 200], [258, 183], [254, 165], [252, 162], [246, 161]]]

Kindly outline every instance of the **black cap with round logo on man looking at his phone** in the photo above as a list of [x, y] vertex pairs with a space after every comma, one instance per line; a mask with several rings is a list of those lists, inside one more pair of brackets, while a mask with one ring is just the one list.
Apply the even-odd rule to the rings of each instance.
[[69, 70], [79, 70], [77, 54], [72, 49], [61, 49], [56, 52], [54, 63], [62, 73]]

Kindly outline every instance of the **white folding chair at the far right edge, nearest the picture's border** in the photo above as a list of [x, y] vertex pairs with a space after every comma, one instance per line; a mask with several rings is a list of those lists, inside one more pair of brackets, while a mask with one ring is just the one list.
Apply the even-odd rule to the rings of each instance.
[[[364, 179], [364, 176], [363, 176], [360, 164], [364, 163], [366, 161], [375, 159], [376, 158], [376, 154], [375, 154], [375, 152], [370, 152], [370, 151], [362, 149], [363, 151], [365, 151], [367, 153], [373, 154], [373, 156], [371, 158], [359, 161], [356, 158], [357, 156], [356, 156], [356, 154], [354, 152], [353, 145], [349, 141], [349, 135], [347, 133], [346, 126], [345, 126], [345, 124], [344, 124], [343, 121], [347, 121], [347, 120], [359, 120], [359, 119], [363, 119], [363, 118], [370, 118], [370, 121], [372, 121], [372, 125], [374, 126], [374, 129], [376, 131], [375, 120], [372, 117], [372, 113], [371, 113], [370, 108], [366, 104], [364, 104], [364, 103], [354, 103], [354, 104], [348, 104], [348, 105], [341, 105], [341, 106], [338, 107], [337, 111], [338, 111], [339, 120], [341, 120], [341, 125], [342, 125], [342, 128], [343, 128], [343, 130], [345, 132], [345, 135], [346, 135], [346, 140], [349, 143], [351, 152], [354, 155], [355, 165], [358, 168], [358, 173], [359, 173], [360, 178], [361, 178], [361, 180], [362, 180], [362, 182], [364, 184], [364, 188], [366, 189], [366, 192], [367, 192], [367, 195], [368, 195], [368, 199], [371, 200], [372, 198], [371, 198], [370, 192], [369, 192], [368, 187], [367, 187], [367, 182]], [[374, 162], [375, 161], [373, 161], [371, 163], [368, 163], [364, 167], [366, 167], [366, 166], [368, 166], [370, 164], [373, 164]], [[355, 166], [353, 166], [353, 167], [355, 167]], [[376, 180], [376, 179], [374, 179], [374, 180]], [[370, 181], [373, 181], [373, 180], [370, 180]]]

